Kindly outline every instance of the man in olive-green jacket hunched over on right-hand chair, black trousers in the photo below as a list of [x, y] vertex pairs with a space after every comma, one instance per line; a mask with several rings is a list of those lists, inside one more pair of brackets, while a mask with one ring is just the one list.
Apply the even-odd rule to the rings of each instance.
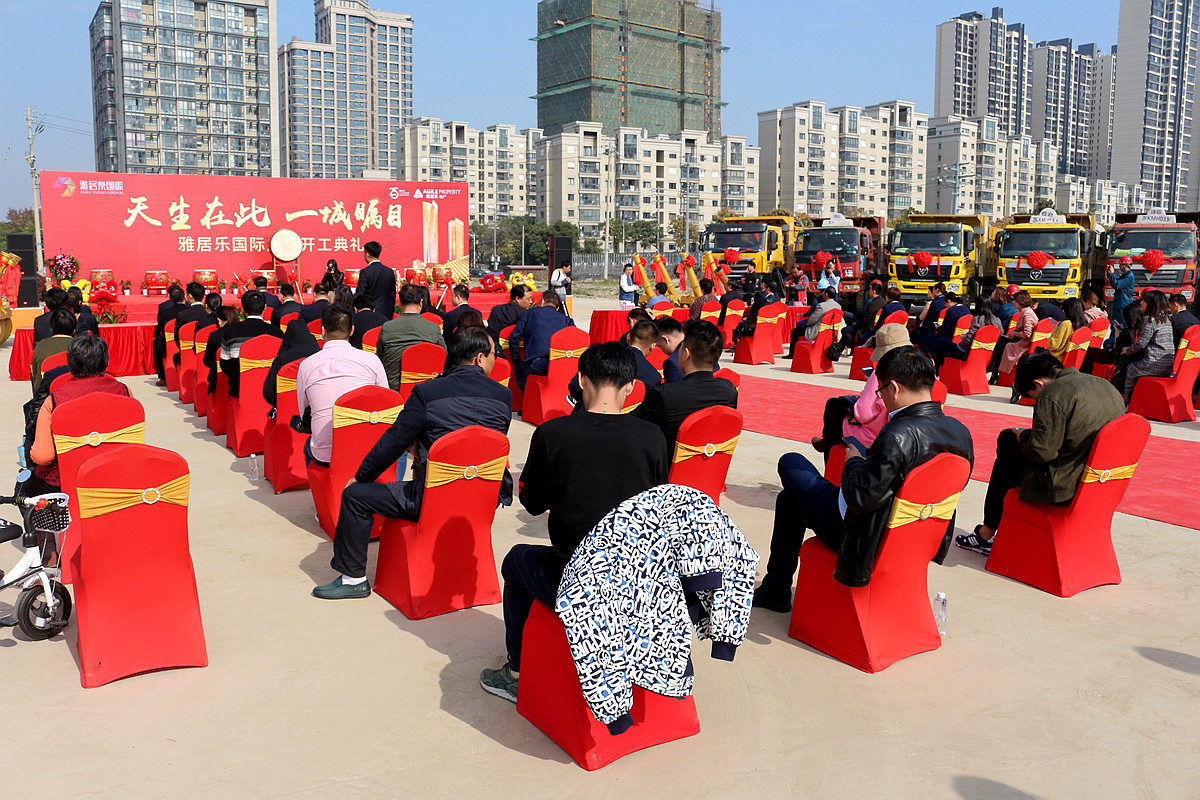
[[1008, 491], [1020, 487], [1025, 503], [1070, 504], [1096, 434], [1126, 413], [1112, 384], [1063, 367], [1044, 350], [1021, 356], [1014, 383], [1022, 396], [1034, 398], [1033, 427], [1001, 431], [983, 524], [955, 540], [959, 547], [984, 555], [991, 554]]

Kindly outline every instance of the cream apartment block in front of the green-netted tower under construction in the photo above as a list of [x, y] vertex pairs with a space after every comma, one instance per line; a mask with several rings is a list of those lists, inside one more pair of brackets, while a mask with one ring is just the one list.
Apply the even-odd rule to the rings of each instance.
[[683, 249], [672, 217], [686, 217], [691, 243], [713, 215], [727, 206], [755, 215], [758, 148], [745, 137], [709, 142], [706, 131], [647, 136], [599, 122], [572, 122], [536, 145], [536, 184], [530, 188], [539, 222], [566, 219], [587, 239], [604, 239], [608, 219], [654, 219], [662, 246]]

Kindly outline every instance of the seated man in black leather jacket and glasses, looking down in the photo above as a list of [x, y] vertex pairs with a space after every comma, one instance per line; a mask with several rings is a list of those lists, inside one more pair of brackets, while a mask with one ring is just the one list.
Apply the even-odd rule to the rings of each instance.
[[[865, 453], [847, 443], [841, 488], [799, 453], [779, 459], [784, 491], [775, 500], [770, 560], [754, 595], [756, 607], [791, 610], [792, 576], [808, 529], [838, 553], [833, 577], [847, 587], [865, 587], [892, 500], [908, 473], [943, 452], [974, 463], [971, 433], [942, 414], [941, 404], [930, 397], [937, 374], [928, 355], [914, 347], [898, 348], [880, 359], [875, 373], [892, 419]], [[935, 559], [938, 564], [949, 547], [949, 534], [948, 529]]]

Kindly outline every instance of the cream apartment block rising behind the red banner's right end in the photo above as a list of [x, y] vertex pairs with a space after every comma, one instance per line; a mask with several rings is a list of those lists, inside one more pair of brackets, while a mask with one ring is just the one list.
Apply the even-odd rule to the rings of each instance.
[[396, 179], [466, 182], [472, 222], [534, 216], [529, 196], [539, 139], [538, 128], [502, 124], [479, 131], [422, 116], [396, 136]]

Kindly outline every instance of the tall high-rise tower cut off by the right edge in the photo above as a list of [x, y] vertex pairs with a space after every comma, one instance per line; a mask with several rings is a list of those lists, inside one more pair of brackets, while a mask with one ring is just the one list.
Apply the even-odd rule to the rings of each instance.
[[1200, 172], [1189, 175], [1198, 48], [1196, 0], [1121, 1], [1111, 176], [1169, 211], [1200, 207]]

